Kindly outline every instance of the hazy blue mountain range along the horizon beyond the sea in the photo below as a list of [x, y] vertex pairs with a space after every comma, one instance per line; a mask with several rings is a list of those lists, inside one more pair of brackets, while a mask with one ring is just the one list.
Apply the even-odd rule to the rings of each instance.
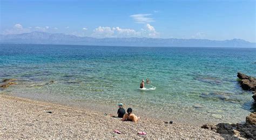
[[0, 35], [0, 43], [11, 44], [59, 44], [59, 45], [97, 45], [97, 46], [156, 46], [156, 47], [256, 47], [242, 39], [161, 39], [161, 38], [92, 38], [77, 37], [71, 34], [31, 32]]

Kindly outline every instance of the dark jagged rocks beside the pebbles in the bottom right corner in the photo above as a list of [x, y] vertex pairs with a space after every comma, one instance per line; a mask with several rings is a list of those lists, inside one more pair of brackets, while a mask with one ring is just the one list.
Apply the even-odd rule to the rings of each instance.
[[238, 138], [256, 138], [256, 113], [247, 116], [245, 124], [204, 124], [201, 128], [210, 129], [219, 134], [232, 135]]

